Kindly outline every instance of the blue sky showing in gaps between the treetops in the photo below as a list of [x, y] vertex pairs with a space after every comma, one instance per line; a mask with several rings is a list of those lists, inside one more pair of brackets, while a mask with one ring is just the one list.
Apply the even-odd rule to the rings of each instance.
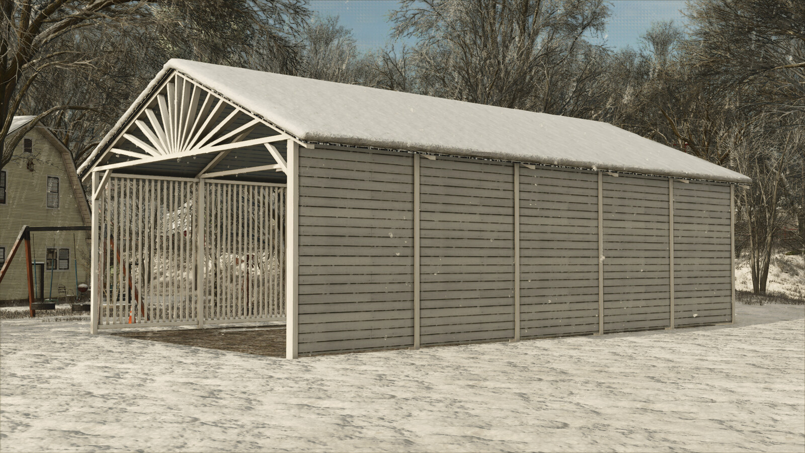
[[[391, 25], [388, 15], [397, 7], [397, 0], [312, 0], [310, 7], [322, 15], [340, 16], [340, 23], [351, 28], [361, 51], [382, 48], [390, 43]], [[673, 19], [685, 23], [679, 10], [684, 0], [611, 0], [607, 42], [612, 48], [631, 45], [638, 48], [638, 38], [651, 23]]]

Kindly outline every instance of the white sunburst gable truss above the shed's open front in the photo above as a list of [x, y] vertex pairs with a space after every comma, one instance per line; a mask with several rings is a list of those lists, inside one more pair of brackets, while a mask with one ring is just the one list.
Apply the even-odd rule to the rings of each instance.
[[294, 139], [177, 72], [167, 75], [123, 128], [96, 171], [265, 177], [286, 171], [286, 142]]

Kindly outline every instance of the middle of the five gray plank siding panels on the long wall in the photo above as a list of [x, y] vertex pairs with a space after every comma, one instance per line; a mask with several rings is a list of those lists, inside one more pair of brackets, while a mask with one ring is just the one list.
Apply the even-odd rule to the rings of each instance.
[[521, 338], [598, 331], [598, 175], [520, 168]]

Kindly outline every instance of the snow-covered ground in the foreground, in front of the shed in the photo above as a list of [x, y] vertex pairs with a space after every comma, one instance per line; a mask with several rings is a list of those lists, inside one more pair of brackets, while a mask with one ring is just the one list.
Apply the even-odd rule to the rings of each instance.
[[805, 306], [298, 360], [0, 322], [2, 451], [805, 451]]

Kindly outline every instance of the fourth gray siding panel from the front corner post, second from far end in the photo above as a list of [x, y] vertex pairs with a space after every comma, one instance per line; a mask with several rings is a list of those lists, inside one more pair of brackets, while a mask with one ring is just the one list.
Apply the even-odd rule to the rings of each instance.
[[604, 330], [671, 323], [668, 180], [604, 175]]

